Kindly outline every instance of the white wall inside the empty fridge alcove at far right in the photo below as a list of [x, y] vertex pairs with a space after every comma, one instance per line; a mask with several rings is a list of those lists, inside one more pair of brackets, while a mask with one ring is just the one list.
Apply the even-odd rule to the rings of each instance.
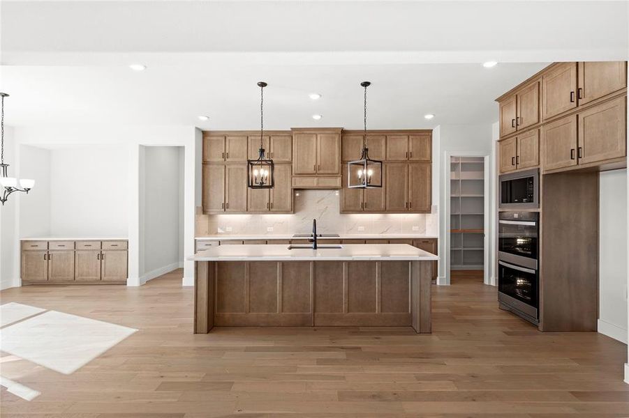
[[627, 343], [627, 170], [600, 173], [598, 332]]

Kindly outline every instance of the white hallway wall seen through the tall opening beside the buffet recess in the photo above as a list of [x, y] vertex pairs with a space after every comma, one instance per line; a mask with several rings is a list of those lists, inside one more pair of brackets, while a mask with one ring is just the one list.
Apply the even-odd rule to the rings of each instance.
[[[142, 282], [183, 265], [180, 226], [183, 225], [182, 147], [144, 147], [142, 194]], [[183, 242], [181, 242], [183, 244]]]

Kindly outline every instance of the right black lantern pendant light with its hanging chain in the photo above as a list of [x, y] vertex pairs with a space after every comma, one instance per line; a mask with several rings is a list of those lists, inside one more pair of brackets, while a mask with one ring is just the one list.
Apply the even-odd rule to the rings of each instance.
[[369, 158], [367, 148], [367, 87], [371, 82], [362, 82], [364, 88], [364, 134], [362, 136], [362, 150], [360, 160], [347, 163], [347, 185], [350, 189], [371, 189], [382, 187], [382, 161]]

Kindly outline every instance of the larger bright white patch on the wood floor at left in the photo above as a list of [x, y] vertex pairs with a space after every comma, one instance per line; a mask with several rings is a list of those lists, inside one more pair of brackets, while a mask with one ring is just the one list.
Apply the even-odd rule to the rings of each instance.
[[0, 350], [70, 374], [136, 331], [100, 320], [47, 311], [0, 330]]

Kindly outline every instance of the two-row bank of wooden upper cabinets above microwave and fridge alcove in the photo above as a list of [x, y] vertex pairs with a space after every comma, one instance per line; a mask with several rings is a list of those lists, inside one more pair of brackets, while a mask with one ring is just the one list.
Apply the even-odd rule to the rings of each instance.
[[627, 63], [554, 63], [497, 99], [501, 173], [626, 167]]

